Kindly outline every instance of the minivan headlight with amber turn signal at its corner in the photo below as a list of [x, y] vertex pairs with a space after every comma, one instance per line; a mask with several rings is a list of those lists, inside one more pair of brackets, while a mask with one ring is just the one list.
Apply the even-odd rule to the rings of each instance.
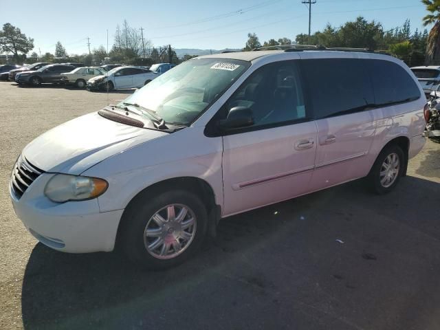
[[44, 193], [51, 201], [83, 201], [102, 195], [109, 184], [97, 177], [57, 174], [47, 182]]

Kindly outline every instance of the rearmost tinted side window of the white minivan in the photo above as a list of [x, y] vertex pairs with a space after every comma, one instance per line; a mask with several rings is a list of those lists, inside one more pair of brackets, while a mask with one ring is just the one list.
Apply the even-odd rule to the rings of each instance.
[[391, 61], [367, 61], [376, 104], [410, 102], [420, 97], [417, 83], [403, 67]]

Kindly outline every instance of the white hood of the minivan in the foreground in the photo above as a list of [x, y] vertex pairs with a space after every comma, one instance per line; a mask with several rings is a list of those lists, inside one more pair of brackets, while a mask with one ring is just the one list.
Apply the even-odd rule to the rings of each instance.
[[40, 135], [25, 146], [23, 155], [45, 172], [79, 175], [107, 157], [164, 135], [168, 133], [89, 113]]

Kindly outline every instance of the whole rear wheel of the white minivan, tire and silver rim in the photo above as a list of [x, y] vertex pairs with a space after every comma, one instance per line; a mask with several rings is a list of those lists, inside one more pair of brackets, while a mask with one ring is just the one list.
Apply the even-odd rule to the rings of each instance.
[[397, 186], [405, 168], [404, 152], [395, 144], [387, 146], [377, 156], [368, 180], [373, 192], [383, 195]]

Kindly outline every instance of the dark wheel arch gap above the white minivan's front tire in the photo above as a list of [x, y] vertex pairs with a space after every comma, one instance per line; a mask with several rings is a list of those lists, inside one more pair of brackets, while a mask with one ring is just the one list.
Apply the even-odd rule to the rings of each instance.
[[173, 188], [178, 188], [179, 190], [188, 190], [201, 199], [201, 201], [206, 205], [206, 210], [208, 212], [208, 234], [215, 236], [217, 223], [221, 217], [221, 206], [217, 205], [215, 201], [215, 194], [212, 186], [210, 186], [207, 181], [200, 179], [199, 177], [173, 177], [151, 184], [140, 192], [137, 192], [129, 203], [127, 203], [118, 225], [118, 231], [116, 233], [116, 246], [119, 245], [120, 236], [123, 230], [124, 214], [126, 214], [130, 206], [138, 199], [147, 199], [151, 195], [157, 195], [161, 192], [172, 190]]

